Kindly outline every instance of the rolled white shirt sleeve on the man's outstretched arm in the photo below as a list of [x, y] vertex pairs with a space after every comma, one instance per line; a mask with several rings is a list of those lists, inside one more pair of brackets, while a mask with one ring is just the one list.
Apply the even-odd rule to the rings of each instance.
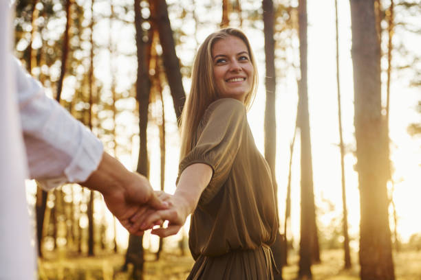
[[102, 159], [102, 143], [12, 60], [30, 177], [46, 189], [87, 180]]

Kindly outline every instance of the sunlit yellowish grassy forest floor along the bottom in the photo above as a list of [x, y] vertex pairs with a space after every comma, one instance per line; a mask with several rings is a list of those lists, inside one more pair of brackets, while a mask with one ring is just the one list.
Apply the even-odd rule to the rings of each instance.
[[[186, 279], [193, 266], [191, 256], [164, 254], [159, 261], [155, 255], [146, 255], [144, 280]], [[396, 280], [421, 280], [421, 251], [394, 253]], [[283, 268], [283, 279], [295, 279], [298, 256], [290, 255], [290, 265]], [[321, 264], [312, 266], [314, 280], [359, 279], [358, 253], [352, 254], [353, 268], [343, 270], [343, 251], [327, 250], [321, 255]], [[63, 253], [47, 255], [39, 260], [39, 280], [127, 280], [129, 272], [122, 272], [124, 255], [98, 255], [96, 257], [69, 257]]]

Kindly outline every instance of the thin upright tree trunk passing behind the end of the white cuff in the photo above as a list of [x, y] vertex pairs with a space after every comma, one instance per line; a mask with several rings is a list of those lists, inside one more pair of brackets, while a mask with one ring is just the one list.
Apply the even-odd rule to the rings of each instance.
[[[69, 0], [67, 0], [69, 1]], [[92, 130], [92, 119], [94, 106], [94, 0], [91, 0], [91, 24], [89, 29], [89, 43], [91, 44], [90, 66], [89, 66], [89, 129]], [[88, 226], [88, 255], [94, 255], [94, 191], [90, 191], [87, 205]]]

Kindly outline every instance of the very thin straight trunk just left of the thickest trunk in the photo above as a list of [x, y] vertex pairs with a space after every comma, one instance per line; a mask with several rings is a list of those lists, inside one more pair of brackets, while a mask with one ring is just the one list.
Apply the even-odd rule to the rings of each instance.
[[341, 112], [341, 83], [339, 80], [339, 32], [338, 32], [338, 0], [335, 0], [335, 19], [336, 19], [336, 86], [338, 93], [338, 124], [339, 124], [339, 148], [341, 149], [341, 183], [342, 183], [342, 209], [343, 209], [343, 248], [345, 269], [351, 268], [351, 255], [349, 252], [349, 235], [348, 235], [348, 211], [347, 211], [347, 198], [345, 193], [345, 148], [343, 145], [342, 135], [342, 112]]

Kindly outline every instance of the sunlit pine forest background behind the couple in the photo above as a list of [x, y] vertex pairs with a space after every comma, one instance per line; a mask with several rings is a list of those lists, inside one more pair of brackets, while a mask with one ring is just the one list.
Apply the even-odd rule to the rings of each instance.
[[[14, 55], [105, 150], [175, 191], [197, 48], [244, 30], [248, 112], [277, 189], [275, 279], [421, 279], [421, 1], [16, 0]], [[177, 235], [129, 235], [100, 193], [26, 181], [38, 279], [186, 279]]]

